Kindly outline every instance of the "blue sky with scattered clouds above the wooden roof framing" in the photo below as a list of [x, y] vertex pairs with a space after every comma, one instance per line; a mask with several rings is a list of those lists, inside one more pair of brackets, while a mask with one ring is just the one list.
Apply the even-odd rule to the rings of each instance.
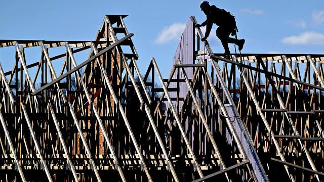
[[[190, 16], [206, 16], [200, 1], [7, 1], [0, 3], [0, 39], [94, 40], [105, 14], [124, 14], [142, 74], [154, 57], [168, 77], [173, 57]], [[210, 1], [236, 17], [242, 53], [324, 54], [324, 3], [314, 1]], [[214, 25], [209, 42], [223, 53]], [[230, 45], [233, 52], [233, 45]], [[38, 53], [40, 54], [40, 53]], [[37, 55], [39, 57], [39, 55]], [[12, 69], [0, 49], [5, 71]], [[37, 59], [39, 60], [39, 59]], [[81, 62], [84, 60], [81, 60]]]

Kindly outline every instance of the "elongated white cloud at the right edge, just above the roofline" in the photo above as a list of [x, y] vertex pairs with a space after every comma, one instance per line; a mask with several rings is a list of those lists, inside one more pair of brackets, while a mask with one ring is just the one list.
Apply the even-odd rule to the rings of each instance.
[[324, 35], [317, 32], [304, 32], [297, 36], [283, 38], [281, 42], [292, 45], [324, 45]]

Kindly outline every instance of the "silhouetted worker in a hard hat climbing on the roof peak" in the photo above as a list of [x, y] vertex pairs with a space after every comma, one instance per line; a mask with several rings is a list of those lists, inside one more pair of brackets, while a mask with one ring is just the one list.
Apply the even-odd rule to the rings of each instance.
[[245, 39], [229, 37], [230, 34], [236, 35], [236, 32], [238, 32], [234, 16], [223, 9], [217, 8], [215, 5], [210, 6], [207, 1], [202, 1], [200, 3], [200, 8], [201, 11], [204, 11], [207, 16], [206, 21], [195, 25], [195, 27], [206, 26], [205, 36], [201, 37], [201, 41], [205, 41], [208, 38], [212, 30], [213, 23], [215, 23], [218, 26], [216, 36], [221, 40], [225, 49], [225, 58], [230, 59], [228, 43], [235, 43], [238, 45], [238, 50], [241, 51], [243, 49]]

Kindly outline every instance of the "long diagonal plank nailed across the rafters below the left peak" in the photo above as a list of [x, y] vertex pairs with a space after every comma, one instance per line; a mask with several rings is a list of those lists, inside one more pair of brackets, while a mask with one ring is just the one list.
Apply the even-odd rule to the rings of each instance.
[[105, 54], [107, 51], [113, 49], [114, 47], [116, 47], [119, 43], [127, 40], [128, 38], [132, 37], [134, 34], [130, 33], [128, 35], [126, 35], [125, 37], [121, 38], [120, 40], [116, 41], [115, 43], [109, 45], [109, 47], [105, 48], [104, 50], [100, 51], [98, 54], [90, 57], [88, 60], [86, 60], [85, 62], [79, 64], [77, 67], [67, 71], [65, 74], [63, 74], [62, 76], [59, 76], [58, 78], [56, 78], [55, 80], [51, 81], [50, 83], [42, 86], [41, 88], [39, 88], [38, 90], [36, 90], [35, 92], [31, 93], [32, 96], [38, 94], [39, 92], [42, 92], [44, 89], [52, 86], [53, 84], [61, 81], [63, 78], [67, 77], [68, 75], [74, 73], [75, 71], [79, 70], [80, 68], [84, 67], [85, 65], [87, 65], [88, 63], [94, 61], [96, 58], [100, 57], [101, 55]]

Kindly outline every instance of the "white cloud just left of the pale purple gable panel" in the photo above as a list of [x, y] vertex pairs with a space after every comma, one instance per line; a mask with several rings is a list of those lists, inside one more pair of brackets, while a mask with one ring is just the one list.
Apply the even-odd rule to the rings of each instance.
[[181, 33], [184, 31], [186, 24], [174, 23], [169, 27], [165, 27], [155, 40], [157, 44], [168, 43], [172, 40], [180, 39]]

